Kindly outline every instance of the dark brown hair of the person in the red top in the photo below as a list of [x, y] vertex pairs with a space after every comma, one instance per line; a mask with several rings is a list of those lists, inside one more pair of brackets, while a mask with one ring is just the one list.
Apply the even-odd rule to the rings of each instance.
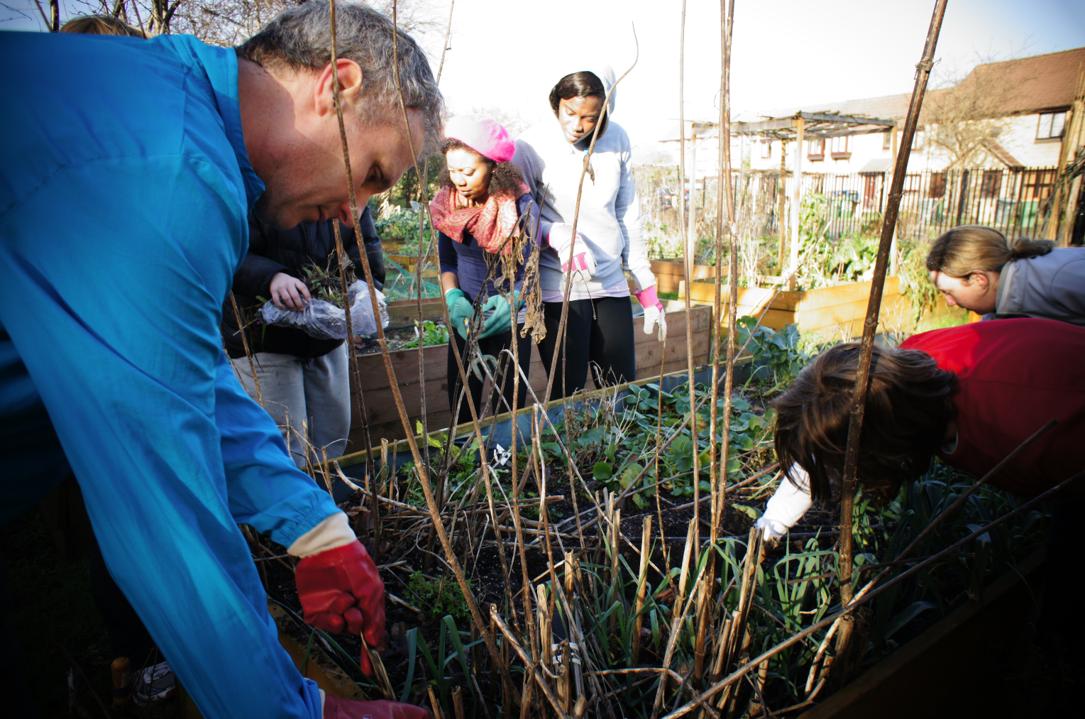
[[[830, 347], [773, 402], [780, 466], [806, 470], [816, 501], [840, 485], [858, 360], [857, 342]], [[896, 493], [902, 482], [922, 474], [956, 413], [956, 375], [927, 352], [875, 347], [859, 439], [864, 488]]]

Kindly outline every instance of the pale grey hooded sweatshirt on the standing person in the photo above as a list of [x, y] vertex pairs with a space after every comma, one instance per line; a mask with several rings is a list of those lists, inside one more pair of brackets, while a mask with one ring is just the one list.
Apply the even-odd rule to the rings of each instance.
[[[613, 87], [614, 70], [609, 65], [573, 67], [556, 75], [556, 78], [585, 69], [595, 73], [607, 90]], [[605, 132], [596, 141], [591, 154], [590, 167], [595, 177], [584, 177], [584, 194], [576, 224], [576, 231], [595, 255], [596, 272], [590, 282], [573, 283], [572, 299], [613, 294], [604, 291], [623, 286], [625, 270], [633, 274], [641, 290], [655, 284], [640, 230], [640, 204], [633, 181], [633, 146], [629, 136], [613, 119], [615, 95], [616, 92], [611, 93], [608, 106], [610, 120]], [[584, 155], [590, 143], [588, 137], [575, 145], [571, 144], [552, 113], [516, 140], [516, 154], [512, 161], [523, 170], [524, 181], [539, 206], [541, 236], [549, 235], [554, 222], [573, 223]], [[556, 251], [544, 248], [539, 256], [539, 275], [544, 292], [564, 291], [561, 260]]]

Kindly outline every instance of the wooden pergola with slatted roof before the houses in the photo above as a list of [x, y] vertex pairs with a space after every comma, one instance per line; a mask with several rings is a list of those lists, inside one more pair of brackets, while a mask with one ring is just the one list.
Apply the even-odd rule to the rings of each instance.
[[[766, 138], [769, 140], [780, 140], [781, 142], [794, 142], [797, 147], [795, 152], [795, 181], [791, 188], [791, 257], [789, 261], [790, 272], [783, 271], [783, 224], [780, 223], [780, 273], [790, 274], [794, 283], [794, 270], [799, 266], [799, 203], [802, 191], [803, 177], [803, 141], [810, 138], [827, 140], [830, 138], [844, 138], [853, 134], [871, 134], [875, 132], [891, 131], [893, 134], [893, 157], [896, 157], [896, 120], [880, 119], [877, 117], [858, 117], [854, 115], [840, 115], [837, 113], [804, 113], [797, 112], [788, 117], [771, 117], [757, 123], [731, 123], [732, 134], [745, 134]], [[784, 158], [787, 151], [780, 153], [780, 178], [782, 182], [784, 171]], [[783, 204], [783, 195], [780, 195], [780, 204]], [[782, 207], [781, 207], [782, 210]]]

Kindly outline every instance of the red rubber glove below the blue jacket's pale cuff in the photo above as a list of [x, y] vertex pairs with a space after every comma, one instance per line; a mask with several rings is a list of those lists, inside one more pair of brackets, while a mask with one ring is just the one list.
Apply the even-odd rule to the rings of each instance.
[[[361, 634], [374, 650], [384, 643], [384, 582], [361, 542], [303, 558], [294, 581], [310, 625], [332, 633]], [[373, 673], [365, 651], [358, 665]]]

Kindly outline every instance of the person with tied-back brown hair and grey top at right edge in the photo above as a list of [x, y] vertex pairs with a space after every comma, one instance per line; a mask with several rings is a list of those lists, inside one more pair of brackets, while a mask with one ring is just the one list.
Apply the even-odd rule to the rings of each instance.
[[984, 319], [1035, 317], [1085, 326], [1085, 247], [1008, 240], [994, 228], [963, 224], [934, 241], [927, 269], [949, 307]]

